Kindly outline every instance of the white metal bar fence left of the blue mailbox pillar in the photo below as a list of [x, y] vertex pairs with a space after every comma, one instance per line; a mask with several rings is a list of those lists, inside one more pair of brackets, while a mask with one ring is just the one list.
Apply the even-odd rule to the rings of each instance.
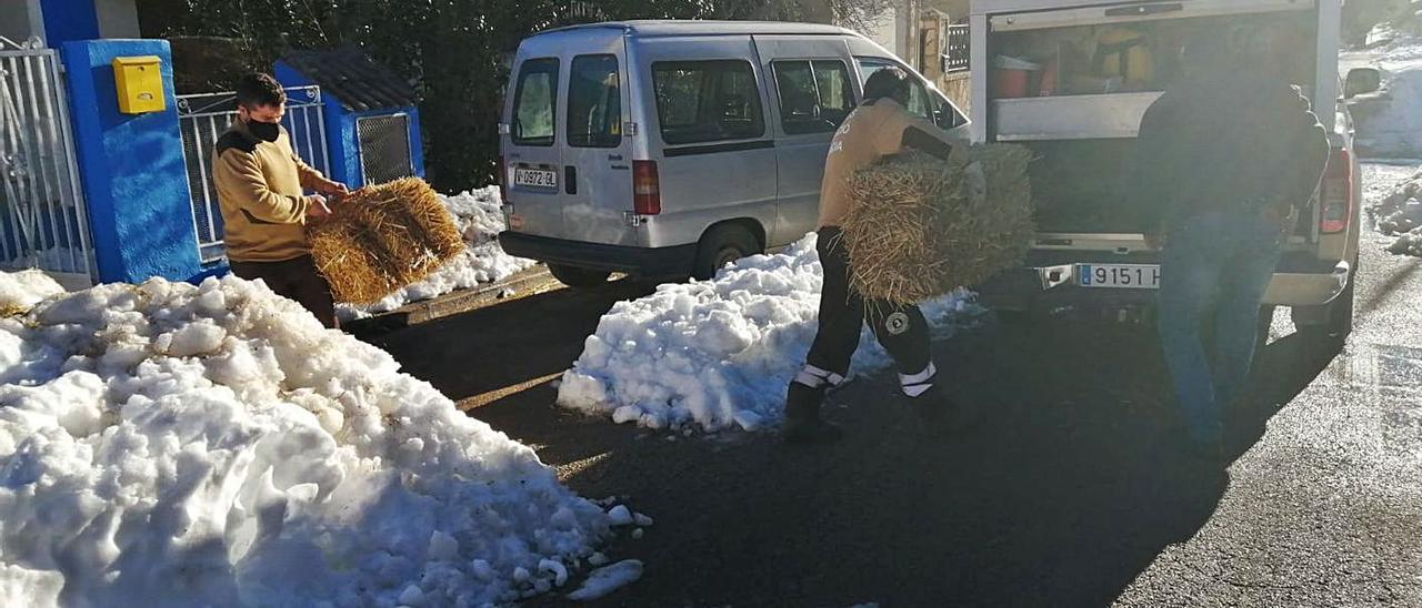
[[0, 38], [0, 267], [92, 284], [73, 142], [58, 53]]

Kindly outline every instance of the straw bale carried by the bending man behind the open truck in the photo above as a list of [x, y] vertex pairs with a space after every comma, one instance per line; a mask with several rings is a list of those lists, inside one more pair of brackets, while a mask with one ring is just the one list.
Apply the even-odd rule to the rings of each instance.
[[946, 162], [910, 152], [856, 172], [840, 226], [850, 284], [909, 304], [1021, 264], [1035, 230], [1030, 161], [1022, 146], [975, 145]]

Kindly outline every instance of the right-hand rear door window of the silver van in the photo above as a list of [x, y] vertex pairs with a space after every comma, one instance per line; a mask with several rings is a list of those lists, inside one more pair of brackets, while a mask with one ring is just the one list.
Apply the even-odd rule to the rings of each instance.
[[574, 57], [567, 89], [567, 145], [576, 148], [621, 145], [621, 87], [617, 57]]

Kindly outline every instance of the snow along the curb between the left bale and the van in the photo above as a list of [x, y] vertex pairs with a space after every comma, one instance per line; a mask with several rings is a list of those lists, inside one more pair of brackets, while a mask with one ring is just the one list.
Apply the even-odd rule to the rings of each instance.
[[458, 196], [439, 196], [449, 209], [455, 224], [464, 234], [465, 250], [458, 257], [434, 271], [422, 281], [411, 284], [367, 305], [341, 304], [337, 315], [343, 320], [370, 317], [400, 308], [412, 301], [429, 300], [455, 290], [475, 287], [508, 278], [519, 270], [533, 266], [533, 260], [513, 257], [499, 247], [499, 233], [503, 232], [503, 212], [499, 210], [498, 186]]

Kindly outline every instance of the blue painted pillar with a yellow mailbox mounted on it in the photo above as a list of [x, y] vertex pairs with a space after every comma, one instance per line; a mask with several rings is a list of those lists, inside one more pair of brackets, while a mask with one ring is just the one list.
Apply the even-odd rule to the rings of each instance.
[[[134, 55], [162, 60], [166, 109], [119, 114], [111, 63]], [[201, 277], [168, 41], [70, 41], [63, 58], [98, 278]]]

